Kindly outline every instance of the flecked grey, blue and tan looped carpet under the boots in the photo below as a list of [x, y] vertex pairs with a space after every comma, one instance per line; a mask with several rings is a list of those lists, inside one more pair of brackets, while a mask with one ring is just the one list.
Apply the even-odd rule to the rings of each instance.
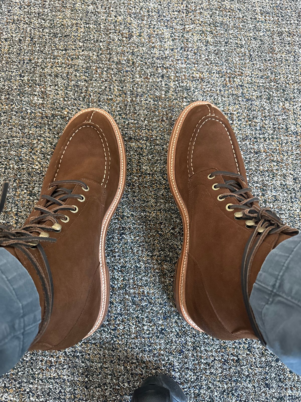
[[177, 313], [183, 230], [166, 173], [175, 119], [208, 100], [234, 127], [262, 205], [300, 227], [300, 12], [289, 0], [2, 0], [2, 222], [24, 222], [82, 108], [116, 119], [128, 176], [107, 236], [103, 326], [65, 351], [26, 353], [0, 378], [0, 400], [129, 401], [163, 372], [190, 402], [300, 401], [300, 377], [257, 341], [215, 340]]

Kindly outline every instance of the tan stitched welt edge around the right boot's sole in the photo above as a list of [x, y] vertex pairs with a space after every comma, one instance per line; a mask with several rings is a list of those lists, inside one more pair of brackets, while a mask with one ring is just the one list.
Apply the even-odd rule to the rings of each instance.
[[[171, 193], [175, 202], [177, 203], [177, 207], [181, 213], [182, 223], [183, 223], [183, 246], [181, 251], [181, 256], [179, 257], [176, 265], [175, 270], [175, 281], [174, 281], [174, 297], [175, 297], [175, 304], [177, 306], [177, 310], [183, 317], [183, 319], [188, 322], [193, 328], [204, 332], [189, 316], [187, 311], [186, 301], [185, 301], [185, 283], [186, 283], [186, 269], [187, 269], [187, 257], [188, 257], [188, 250], [189, 250], [189, 216], [188, 211], [185, 207], [183, 199], [180, 195], [179, 189], [177, 187], [177, 183], [175, 180], [175, 154], [177, 148], [177, 141], [179, 138], [179, 133], [181, 131], [181, 127], [185, 118], [187, 117], [189, 111], [196, 106], [199, 105], [212, 105], [209, 102], [194, 102], [188, 105], [182, 113], [177, 118], [175, 122], [175, 126], [173, 127], [173, 131], [171, 133], [171, 138], [169, 141], [168, 147], [168, 154], [167, 154], [167, 176], [169, 187], [171, 189]], [[212, 105], [216, 109], [216, 106]]]

